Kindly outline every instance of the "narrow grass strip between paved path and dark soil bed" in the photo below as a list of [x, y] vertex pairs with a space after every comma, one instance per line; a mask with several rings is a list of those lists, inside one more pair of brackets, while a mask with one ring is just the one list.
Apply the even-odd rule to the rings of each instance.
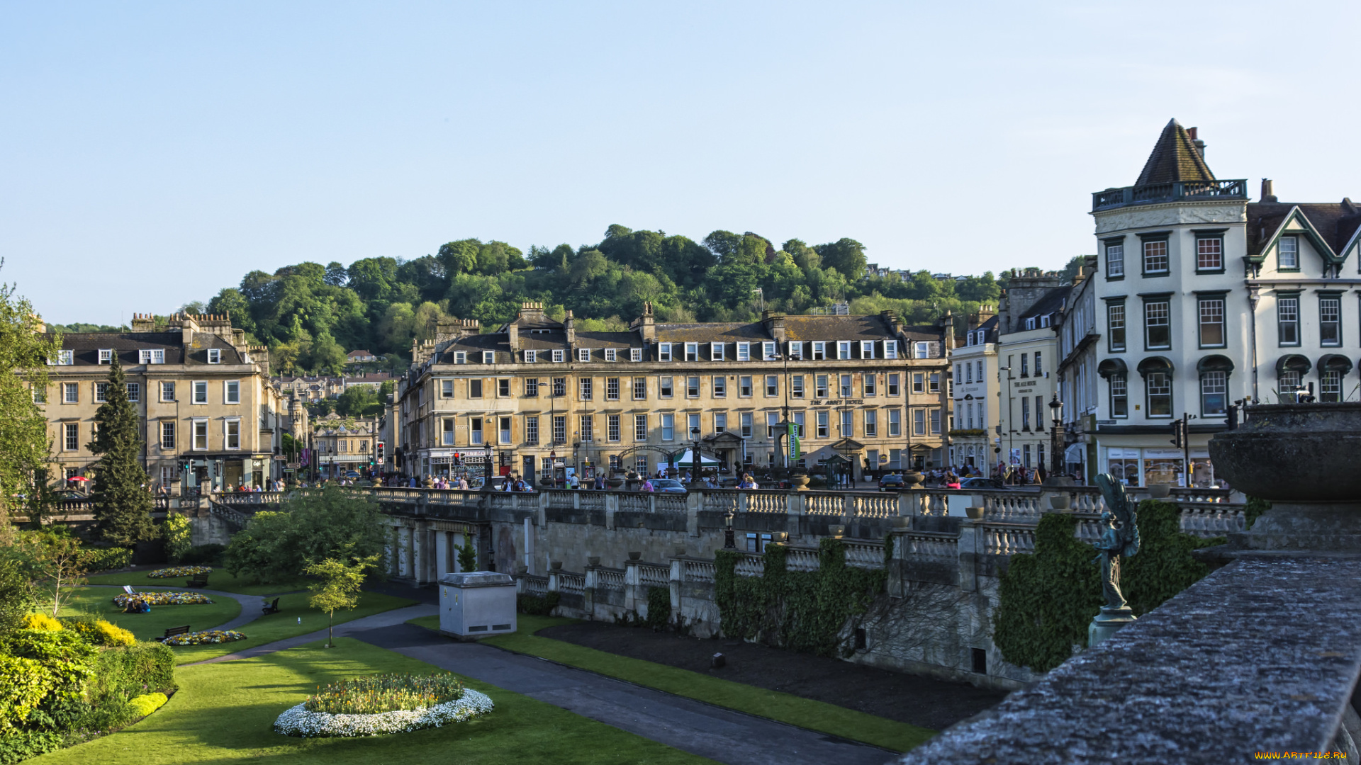
[[[930, 728], [919, 728], [908, 723], [875, 717], [874, 715], [866, 715], [864, 712], [856, 712], [845, 706], [712, 678], [700, 672], [691, 672], [690, 670], [630, 659], [617, 653], [606, 653], [595, 648], [585, 648], [573, 642], [534, 634], [543, 628], [570, 623], [573, 619], [531, 617], [527, 614], [516, 614], [516, 619], [517, 632], [514, 634], [483, 637], [480, 642], [531, 656], [542, 656], [572, 667], [591, 670], [592, 672], [611, 678], [619, 678], [687, 698], [708, 701], [709, 704], [769, 717], [770, 720], [789, 723], [802, 728], [863, 740], [894, 751], [908, 751], [935, 735], [935, 731]], [[438, 629], [440, 617], [421, 617], [411, 619], [410, 623]]]

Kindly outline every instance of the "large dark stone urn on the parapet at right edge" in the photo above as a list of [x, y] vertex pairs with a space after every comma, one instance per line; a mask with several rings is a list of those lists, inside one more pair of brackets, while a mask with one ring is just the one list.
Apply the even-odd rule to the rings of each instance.
[[1255, 550], [1361, 551], [1361, 404], [1248, 407], [1210, 440], [1217, 476], [1271, 501], [1230, 544]]

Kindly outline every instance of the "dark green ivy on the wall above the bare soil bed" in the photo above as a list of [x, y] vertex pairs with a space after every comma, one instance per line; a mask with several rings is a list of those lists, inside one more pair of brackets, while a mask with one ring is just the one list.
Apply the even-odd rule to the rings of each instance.
[[887, 579], [885, 570], [848, 566], [845, 543], [833, 538], [819, 542], [813, 572], [788, 570], [788, 547], [769, 544], [764, 576], [738, 576], [743, 555], [715, 554], [713, 595], [723, 634], [819, 656], [852, 652], [842, 645], [847, 619], [863, 613]]

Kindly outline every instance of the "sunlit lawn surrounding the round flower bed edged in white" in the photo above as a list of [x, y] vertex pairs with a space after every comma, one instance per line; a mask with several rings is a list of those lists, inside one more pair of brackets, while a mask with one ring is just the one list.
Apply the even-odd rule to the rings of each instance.
[[436, 667], [350, 638], [338, 648], [310, 644], [257, 659], [181, 667], [180, 691], [140, 723], [90, 743], [45, 754], [38, 765], [176, 765], [278, 762], [298, 765], [700, 765], [701, 757], [588, 720], [566, 709], [486, 683], [468, 686], [495, 709], [442, 728], [373, 738], [302, 739], [275, 734], [274, 719], [317, 685], [373, 672], [431, 672]]

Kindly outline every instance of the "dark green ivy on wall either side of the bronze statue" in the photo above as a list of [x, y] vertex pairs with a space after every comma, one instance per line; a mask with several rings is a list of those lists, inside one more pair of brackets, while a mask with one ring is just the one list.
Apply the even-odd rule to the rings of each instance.
[[[992, 615], [992, 641], [1013, 664], [1047, 672], [1086, 645], [1087, 625], [1104, 603], [1096, 549], [1072, 534], [1078, 519], [1049, 513], [1034, 532], [1034, 553], [1013, 555]], [[1195, 584], [1209, 568], [1191, 550], [1222, 544], [1180, 530], [1172, 502], [1139, 504], [1139, 553], [1120, 561], [1120, 585], [1143, 615]]]

